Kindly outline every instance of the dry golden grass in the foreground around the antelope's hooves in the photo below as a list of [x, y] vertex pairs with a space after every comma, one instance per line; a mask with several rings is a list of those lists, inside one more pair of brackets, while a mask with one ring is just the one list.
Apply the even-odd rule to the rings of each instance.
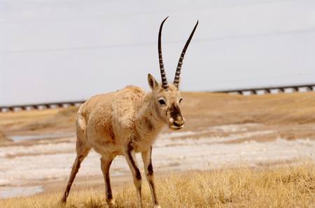
[[[151, 196], [144, 183], [144, 205]], [[314, 207], [315, 165], [279, 168], [223, 168], [157, 179], [162, 207]], [[0, 201], [0, 207], [60, 207], [61, 193]], [[114, 192], [118, 207], [135, 207], [132, 184]], [[66, 207], [102, 207], [104, 191], [72, 192]]]

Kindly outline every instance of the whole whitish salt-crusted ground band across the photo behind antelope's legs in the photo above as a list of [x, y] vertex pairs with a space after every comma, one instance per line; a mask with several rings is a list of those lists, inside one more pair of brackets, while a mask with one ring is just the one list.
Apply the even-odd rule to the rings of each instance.
[[[238, 127], [229, 125], [231, 131], [235, 131], [236, 128]], [[227, 131], [228, 127], [219, 129]], [[160, 135], [153, 148], [155, 170], [158, 172], [207, 170], [222, 167], [222, 165], [233, 166], [242, 162], [256, 165], [258, 162], [290, 161], [304, 156], [315, 159], [315, 141], [313, 140], [279, 138], [272, 142], [241, 142], [245, 138], [267, 135], [274, 131], [241, 132], [223, 138], [187, 138], [187, 136], [193, 137], [196, 133], [200, 132], [187, 131]], [[179, 139], [183, 136], [186, 137], [185, 140]], [[239, 143], [223, 144], [231, 140], [239, 140]], [[23, 186], [30, 181], [45, 179], [62, 179], [66, 183], [76, 158], [75, 147], [75, 142], [37, 144], [30, 147], [0, 147], [0, 184]], [[10, 158], [8, 157], [10, 155], [16, 155], [16, 157]], [[102, 175], [99, 158], [99, 154], [90, 151], [81, 165], [78, 177], [83, 176], [88, 179], [88, 177]], [[139, 154], [137, 158], [142, 167]], [[118, 156], [111, 165], [111, 175], [126, 174], [130, 175], [130, 170], [125, 158]]]

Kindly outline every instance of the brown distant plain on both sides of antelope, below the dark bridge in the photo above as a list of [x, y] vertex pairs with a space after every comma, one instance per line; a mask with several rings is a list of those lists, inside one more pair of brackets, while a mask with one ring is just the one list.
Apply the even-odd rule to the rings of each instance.
[[[185, 92], [183, 98], [186, 131], [225, 124], [260, 123], [278, 128], [315, 123], [315, 92], [263, 96]], [[74, 132], [77, 110], [78, 107], [70, 107], [0, 113], [0, 129], [7, 135], [55, 133], [60, 130]], [[304, 134], [308, 137], [311, 133]], [[311, 137], [315, 138], [315, 135]]]

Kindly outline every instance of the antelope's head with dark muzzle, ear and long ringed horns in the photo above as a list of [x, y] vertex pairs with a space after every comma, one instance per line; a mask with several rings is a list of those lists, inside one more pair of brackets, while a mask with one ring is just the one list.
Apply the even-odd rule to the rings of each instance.
[[[167, 20], [168, 17], [165, 18]], [[148, 74], [148, 84], [153, 92], [153, 103], [154, 110], [158, 117], [169, 125], [169, 128], [172, 129], [181, 129], [185, 124], [185, 119], [181, 114], [181, 103], [183, 98], [181, 97], [181, 92], [179, 91], [179, 81], [181, 75], [181, 65], [183, 64], [183, 58], [185, 56], [186, 50], [190, 43], [190, 40], [193, 38], [193, 34], [197, 28], [198, 22], [195, 25], [193, 31], [191, 32], [186, 45], [183, 47], [183, 51], [181, 52], [181, 57], [179, 58], [179, 64], [176, 68], [176, 73], [174, 77], [173, 84], [168, 84], [167, 77], [164, 69], [163, 59], [162, 59], [162, 45], [161, 45], [161, 34], [162, 27], [165, 22], [160, 25], [160, 31], [158, 36], [158, 53], [159, 53], [159, 61], [160, 61], [160, 73], [162, 78], [162, 84], [158, 84], [155, 78]]]

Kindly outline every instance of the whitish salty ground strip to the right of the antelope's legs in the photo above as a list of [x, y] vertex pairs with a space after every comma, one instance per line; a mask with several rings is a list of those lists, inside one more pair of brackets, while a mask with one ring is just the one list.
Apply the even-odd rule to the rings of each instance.
[[[302, 144], [301, 144], [302, 143]], [[304, 145], [301, 140], [276, 140], [274, 142], [246, 142], [242, 144], [196, 144], [181, 147], [165, 147], [153, 151], [155, 165], [167, 170], [207, 170], [222, 165], [236, 165], [242, 162], [255, 165], [258, 161], [283, 161], [303, 158], [315, 159], [314, 141]], [[172, 154], [170, 154], [172, 153]], [[177, 162], [177, 167], [169, 163]]]

